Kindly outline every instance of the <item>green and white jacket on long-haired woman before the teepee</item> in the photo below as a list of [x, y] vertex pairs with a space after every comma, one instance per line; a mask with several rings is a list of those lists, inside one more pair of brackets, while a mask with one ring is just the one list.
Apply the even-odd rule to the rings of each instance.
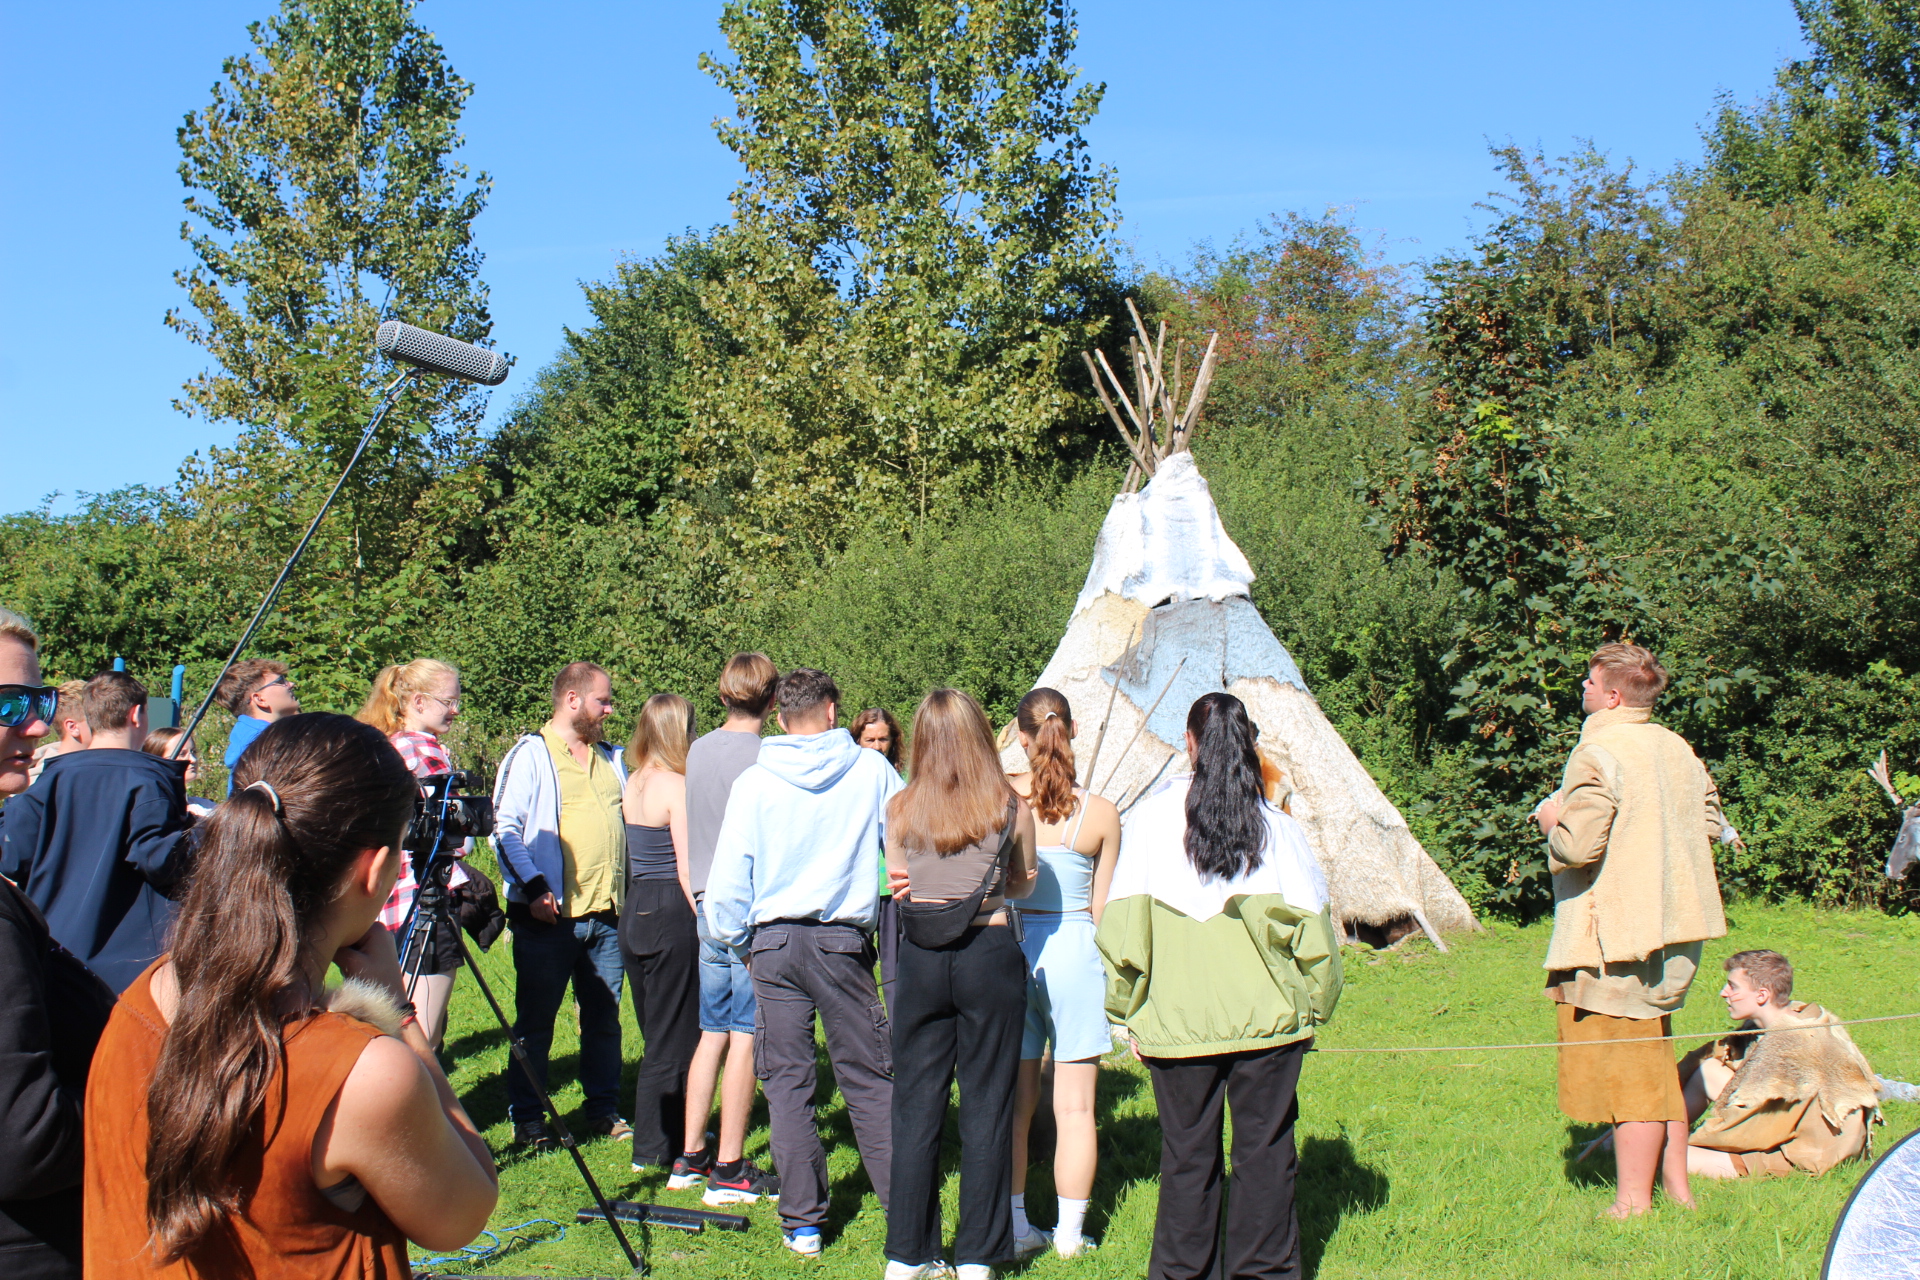
[[1238, 1054], [1308, 1040], [1340, 1000], [1327, 877], [1275, 804], [1260, 865], [1231, 881], [1187, 860], [1187, 787], [1133, 806], [1100, 917], [1106, 1013], [1146, 1057]]

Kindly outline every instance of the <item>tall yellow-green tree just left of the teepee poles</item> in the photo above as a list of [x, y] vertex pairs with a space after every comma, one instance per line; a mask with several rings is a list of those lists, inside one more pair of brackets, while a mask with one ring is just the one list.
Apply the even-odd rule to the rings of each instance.
[[831, 551], [1085, 453], [1073, 361], [1116, 311], [1114, 180], [1064, 0], [732, 0], [747, 173], [689, 345], [687, 480], [733, 533]]

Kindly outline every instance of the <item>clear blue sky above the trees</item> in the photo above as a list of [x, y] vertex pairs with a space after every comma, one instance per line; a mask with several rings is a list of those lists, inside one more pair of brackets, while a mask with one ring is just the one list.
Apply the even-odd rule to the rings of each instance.
[[[228, 424], [171, 409], [204, 367], [161, 324], [182, 190], [175, 129], [269, 0], [0, 13], [0, 512], [167, 484]], [[474, 83], [465, 159], [493, 175], [476, 223], [495, 345], [518, 370], [497, 418], [588, 319], [582, 280], [726, 215], [730, 102], [695, 59], [712, 0], [424, 0]], [[1146, 265], [1258, 219], [1352, 205], [1390, 257], [1461, 246], [1494, 184], [1488, 142], [1594, 138], [1667, 171], [1715, 96], [1753, 100], [1799, 52], [1788, 0], [1081, 0], [1079, 65], [1106, 83], [1089, 138], [1119, 175]]]

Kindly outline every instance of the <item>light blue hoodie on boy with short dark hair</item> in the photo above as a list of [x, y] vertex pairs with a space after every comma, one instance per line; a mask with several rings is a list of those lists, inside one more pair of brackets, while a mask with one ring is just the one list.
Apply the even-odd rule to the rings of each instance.
[[887, 800], [900, 775], [847, 729], [787, 733], [733, 781], [707, 879], [707, 927], [745, 954], [753, 927], [822, 919], [872, 931]]

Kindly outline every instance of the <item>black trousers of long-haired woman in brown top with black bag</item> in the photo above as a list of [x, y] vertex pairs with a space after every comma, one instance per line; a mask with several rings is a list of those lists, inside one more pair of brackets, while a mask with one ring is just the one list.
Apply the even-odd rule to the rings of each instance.
[[887, 1257], [941, 1257], [941, 1130], [960, 1077], [960, 1226], [954, 1263], [1014, 1257], [1014, 1075], [1027, 958], [1004, 925], [941, 948], [900, 938], [893, 992], [893, 1203]]

